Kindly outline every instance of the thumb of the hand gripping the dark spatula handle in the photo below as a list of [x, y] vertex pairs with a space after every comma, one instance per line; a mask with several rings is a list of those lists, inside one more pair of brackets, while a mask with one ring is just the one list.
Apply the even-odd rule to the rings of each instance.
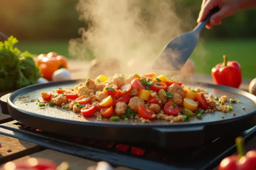
[[210, 25], [219, 25], [221, 19], [232, 15], [232, 10], [229, 6], [223, 6], [218, 12], [212, 15], [210, 18]]

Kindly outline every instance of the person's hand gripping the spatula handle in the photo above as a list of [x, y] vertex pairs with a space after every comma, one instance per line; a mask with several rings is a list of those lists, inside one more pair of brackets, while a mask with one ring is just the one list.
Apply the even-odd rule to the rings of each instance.
[[222, 18], [235, 14], [239, 10], [239, 0], [203, 0], [197, 23], [203, 21], [209, 11], [217, 6], [220, 10], [210, 18], [206, 25], [208, 29], [211, 29], [212, 25], [220, 25]]

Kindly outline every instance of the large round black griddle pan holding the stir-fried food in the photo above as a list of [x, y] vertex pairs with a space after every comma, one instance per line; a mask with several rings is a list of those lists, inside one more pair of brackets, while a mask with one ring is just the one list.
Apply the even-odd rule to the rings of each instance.
[[[42, 109], [36, 105], [36, 100], [41, 100], [41, 91], [73, 88], [79, 82], [82, 81], [51, 82], [17, 90], [7, 98], [9, 115], [23, 125], [51, 133], [115, 142], [150, 142], [165, 148], [200, 147], [205, 139], [231, 135], [256, 125], [256, 96], [235, 88], [196, 82], [184, 84], [191, 89], [200, 87], [208, 90], [208, 94], [213, 96], [226, 95], [225, 105], [233, 106], [233, 110], [204, 113], [201, 119], [193, 116], [189, 122], [171, 124], [162, 119], [154, 119], [150, 123], [142, 123], [138, 119], [112, 122], [102, 118], [102, 121], [97, 121], [95, 116], [84, 118], [60, 107], [46, 106]], [[19, 96], [29, 97], [19, 99]], [[239, 99], [241, 103], [232, 104], [230, 98]]]

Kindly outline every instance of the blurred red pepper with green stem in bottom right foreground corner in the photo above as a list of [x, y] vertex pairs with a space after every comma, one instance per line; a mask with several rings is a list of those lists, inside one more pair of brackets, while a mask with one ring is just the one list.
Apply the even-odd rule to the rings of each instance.
[[244, 155], [241, 137], [236, 138], [236, 147], [239, 155], [223, 159], [218, 170], [256, 170], [256, 150], [251, 150]]

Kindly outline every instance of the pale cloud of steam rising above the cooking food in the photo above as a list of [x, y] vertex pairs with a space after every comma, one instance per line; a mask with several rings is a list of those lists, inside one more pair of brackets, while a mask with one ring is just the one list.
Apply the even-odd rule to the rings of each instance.
[[77, 11], [89, 25], [79, 29], [81, 38], [70, 40], [70, 56], [91, 59], [93, 53], [101, 61], [118, 59], [119, 74], [152, 72], [164, 45], [183, 33], [172, 0], [79, 0]]

